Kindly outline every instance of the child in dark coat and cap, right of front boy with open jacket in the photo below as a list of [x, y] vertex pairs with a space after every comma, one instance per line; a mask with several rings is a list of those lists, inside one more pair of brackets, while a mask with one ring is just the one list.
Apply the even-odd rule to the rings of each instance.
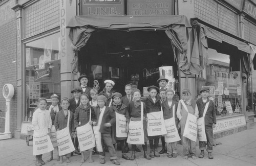
[[[121, 98], [122, 98], [122, 94], [121, 93], [118, 93], [118, 92], [115, 92], [112, 94], [112, 99], [113, 99], [113, 104], [111, 105], [111, 109], [113, 109], [113, 111], [116, 112], [116, 121], [118, 121], [118, 114], [122, 114], [124, 115], [124, 117], [126, 117], [126, 128], [129, 127], [129, 121], [130, 121], [130, 116], [129, 116], [129, 112], [127, 110], [127, 107], [121, 103]], [[119, 126], [118, 126], [119, 127]], [[121, 144], [121, 151], [122, 151], [122, 158], [126, 159], [126, 160], [130, 160], [130, 157], [126, 156], [125, 154], [125, 140], [127, 139], [127, 137], [119, 137], [117, 136], [117, 132], [119, 132], [119, 130], [117, 131], [117, 128], [116, 128], [116, 123], [114, 124], [113, 126], [113, 129], [114, 129], [114, 134], [115, 134], [115, 138], [117, 140], [117, 142], [119, 142]], [[126, 132], [129, 130], [129, 129], [125, 129]]]

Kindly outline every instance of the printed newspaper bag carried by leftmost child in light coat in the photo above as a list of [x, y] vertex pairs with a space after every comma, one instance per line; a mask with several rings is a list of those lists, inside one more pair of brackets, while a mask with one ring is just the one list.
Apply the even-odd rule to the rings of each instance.
[[48, 134], [33, 136], [33, 155], [40, 155], [53, 150], [54, 148]]

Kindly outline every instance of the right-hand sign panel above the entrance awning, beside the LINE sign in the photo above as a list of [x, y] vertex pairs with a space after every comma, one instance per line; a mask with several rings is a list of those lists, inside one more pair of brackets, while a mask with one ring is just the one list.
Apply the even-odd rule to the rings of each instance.
[[127, 15], [173, 15], [173, 0], [127, 1]]

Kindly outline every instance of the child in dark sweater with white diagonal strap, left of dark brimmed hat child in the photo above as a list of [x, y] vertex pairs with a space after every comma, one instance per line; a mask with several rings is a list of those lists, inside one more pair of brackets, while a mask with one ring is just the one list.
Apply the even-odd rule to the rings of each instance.
[[[151, 157], [147, 154], [147, 145], [146, 145], [146, 125], [147, 125], [147, 116], [146, 116], [146, 107], [145, 103], [140, 101], [141, 92], [139, 89], [133, 90], [133, 101], [131, 101], [128, 105], [128, 111], [130, 114], [130, 122], [131, 121], [141, 121], [143, 120], [143, 131], [144, 131], [144, 145], [142, 145], [144, 151], [144, 158], [151, 159]], [[143, 117], [141, 116], [141, 103], [143, 103]], [[132, 156], [130, 160], [135, 160], [135, 148], [136, 145], [132, 145]]]

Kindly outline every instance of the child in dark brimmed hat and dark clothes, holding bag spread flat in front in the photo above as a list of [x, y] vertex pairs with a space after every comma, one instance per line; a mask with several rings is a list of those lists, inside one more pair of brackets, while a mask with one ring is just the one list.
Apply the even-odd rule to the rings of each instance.
[[[159, 96], [157, 96], [159, 88], [156, 86], [150, 86], [147, 88], [147, 91], [150, 92], [150, 96], [144, 100], [144, 103], [146, 104], [146, 112], [150, 113], [161, 111], [161, 99]], [[160, 157], [157, 148], [159, 144], [159, 138], [161, 138], [161, 136], [162, 135], [147, 136], [150, 140], [150, 157]]]

